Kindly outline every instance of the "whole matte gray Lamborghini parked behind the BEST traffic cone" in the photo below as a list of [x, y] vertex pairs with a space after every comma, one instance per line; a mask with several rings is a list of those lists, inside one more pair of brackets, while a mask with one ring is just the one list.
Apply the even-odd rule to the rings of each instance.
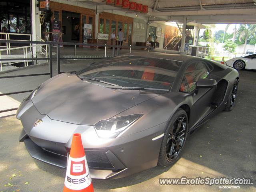
[[80, 133], [92, 178], [120, 178], [170, 166], [188, 133], [230, 111], [239, 76], [192, 56], [140, 52], [54, 76], [17, 111], [20, 141], [33, 158], [66, 167]]

